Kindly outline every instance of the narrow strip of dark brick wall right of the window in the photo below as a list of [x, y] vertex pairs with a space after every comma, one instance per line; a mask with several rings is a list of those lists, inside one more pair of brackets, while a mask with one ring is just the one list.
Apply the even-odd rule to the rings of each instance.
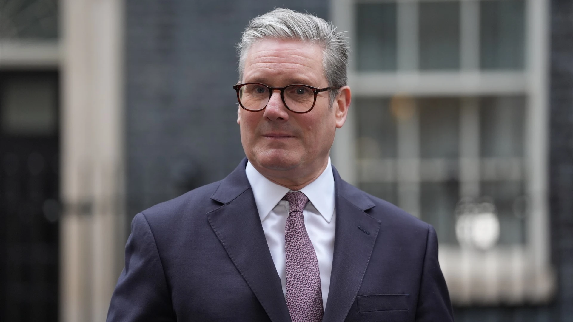
[[573, 1], [551, 3], [549, 187], [552, 259], [559, 278], [555, 321], [573, 321]]

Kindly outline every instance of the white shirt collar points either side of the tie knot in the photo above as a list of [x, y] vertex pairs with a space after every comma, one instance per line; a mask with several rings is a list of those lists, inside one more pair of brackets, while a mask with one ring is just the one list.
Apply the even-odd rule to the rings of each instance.
[[[250, 162], [247, 162], [245, 172], [253, 189], [258, 215], [263, 221], [290, 190], [265, 178]], [[320, 176], [300, 191], [307, 196], [324, 220], [330, 223], [335, 208], [334, 176], [330, 157], [328, 157], [328, 164]]]

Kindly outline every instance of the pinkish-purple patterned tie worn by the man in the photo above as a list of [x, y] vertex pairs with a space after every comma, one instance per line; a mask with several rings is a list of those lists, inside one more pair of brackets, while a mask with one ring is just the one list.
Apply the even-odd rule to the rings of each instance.
[[308, 198], [296, 191], [282, 199], [290, 207], [285, 226], [286, 306], [292, 322], [320, 322], [323, 301], [319, 262], [303, 217]]

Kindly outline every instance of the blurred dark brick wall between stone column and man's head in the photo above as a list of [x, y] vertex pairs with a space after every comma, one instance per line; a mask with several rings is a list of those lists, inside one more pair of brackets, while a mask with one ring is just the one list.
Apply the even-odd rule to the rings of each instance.
[[274, 7], [328, 17], [328, 0], [126, 1], [129, 219], [224, 178], [244, 157], [235, 45]]

